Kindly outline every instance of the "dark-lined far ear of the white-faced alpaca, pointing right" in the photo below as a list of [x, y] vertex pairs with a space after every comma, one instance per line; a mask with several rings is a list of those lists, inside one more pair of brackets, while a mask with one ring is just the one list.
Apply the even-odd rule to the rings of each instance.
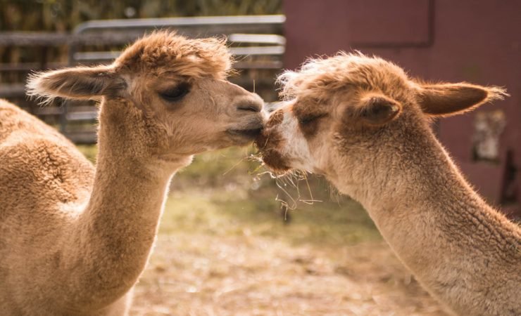
[[474, 110], [483, 103], [501, 100], [505, 96], [508, 96], [506, 91], [495, 86], [426, 84], [420, 85], [418, 102], [425, 114], [450, 116]]

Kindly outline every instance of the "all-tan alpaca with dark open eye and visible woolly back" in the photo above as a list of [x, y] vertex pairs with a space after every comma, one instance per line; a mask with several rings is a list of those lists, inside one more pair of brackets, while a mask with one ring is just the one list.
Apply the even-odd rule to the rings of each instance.
[[263, 127], [263, 101], [225, 80], [230, 66], [219, 39], [155, 32], [112, 65], [35, 74], [44, 102], [101, 98], [96, 168], [0, 101], [1, 315], [127, 314], [172, 175]]

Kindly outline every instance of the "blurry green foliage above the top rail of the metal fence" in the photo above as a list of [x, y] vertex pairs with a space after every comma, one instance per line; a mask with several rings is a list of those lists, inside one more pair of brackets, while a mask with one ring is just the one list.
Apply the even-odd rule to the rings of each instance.
[[99, 19], [277, 14], [282, 0], [0, 0], [0, 31], [58, 31]]

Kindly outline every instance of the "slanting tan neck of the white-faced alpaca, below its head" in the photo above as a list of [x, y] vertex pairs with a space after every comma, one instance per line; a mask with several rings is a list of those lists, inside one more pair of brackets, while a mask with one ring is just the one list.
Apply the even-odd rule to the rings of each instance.
[[506, 308], [501, 297], [517, 295], [521, 281], [519, 228], [472, 190], [429, 129], [398, 139], [400, 146], [378, 144], [390, 154], [377, 157], [367, 178], [356, 187], [337, 180], [339, 189], [365, 206], [401, 261], [453, 310]]

